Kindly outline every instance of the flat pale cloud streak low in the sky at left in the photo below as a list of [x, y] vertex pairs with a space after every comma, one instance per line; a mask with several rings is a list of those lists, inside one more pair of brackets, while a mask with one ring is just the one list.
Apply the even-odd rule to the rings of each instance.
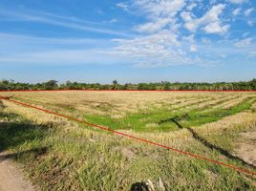
[[0, 64], [77, 65], [119, 64], [123, 58], [97, 50], [54, 50], [35, 53], [11, 53], [0, 57]]

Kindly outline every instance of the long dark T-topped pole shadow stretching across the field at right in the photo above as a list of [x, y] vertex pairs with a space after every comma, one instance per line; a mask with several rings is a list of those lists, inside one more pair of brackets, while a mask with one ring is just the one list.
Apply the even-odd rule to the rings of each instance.
[[216, 151], [218, 151], [219, 153], [221, 153], [222, 155], [224, 155], [224, 156], [225, 156], [226, 158], [228, 158], [228, 159], [235, 159], [235, 160], [238, 160], [238, 161], [240, 161], [242, 164], [247, 165], [247, 166], [250, 166], [250, 167], [256, 169], [256, 166], [255, 166], [255, 165], [250, 164], [250, 163], [246, 162], [244, 159], [241, 159], [241, 158], [239, 158], [239, 157], [237, 157], [237, 156], [233, 156], [233, 155], [230, 154], [227, 150], [224, 150], [223, 148], [212, 144], [212, 143], [209, 142], [207, 139], [200, 137], [200, 135], [198, 135], [198, 133], [197, 133], [195, 130], [193, 130], [192, 128], [190, 128], [190, 127], [183, 127], [183, 126], [181, 125], [181, 123], [178, 122], [178, 120], [181, 120], [181, 119], [183, 119], [183, 118], [185, 118], [185, 117], [188, 117], [188, 116], [187, 116], [187, 115], [184, 115], [184, 116], [182, 116], [182, 117], [171, 117], [171, 118], [168, 118], [168, 119], [165, 119], [165, 120], [160, 120], [159, 124], [160, 124], [160, 123], [164, 123], [164, 122], [173, 122], [173, 123], [175, 123], [180, 129], [184, 129], [184, 128], [187, 129], [187, 130], [192, 134], [193, 138], [199, 140], [199, 141], [200, 141], [201, 143], [203, 143], [203, 145], [206, 146], [207, 148], [209, 148], [209, 149], [211, 149], [211, 150], [216, 150]]

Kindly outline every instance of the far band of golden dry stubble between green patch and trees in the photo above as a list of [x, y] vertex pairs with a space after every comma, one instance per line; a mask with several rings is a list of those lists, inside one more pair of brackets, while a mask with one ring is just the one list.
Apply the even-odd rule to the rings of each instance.
[[[225, 103], [230, 99], [255, 96], [254, 93], [197, 93], [197, 92], [26, 92], [2, 93], [29, 102], [49, 106], [71, 107], [84, 113], [122, 115], [143, 109], [191, 107], [203, 109]], [[244, 100], [244, 99], [243, 99]], [[231, 101], [231, 100], [230, 100]], [[223, 103], [223, 104], [224, 104]]]

